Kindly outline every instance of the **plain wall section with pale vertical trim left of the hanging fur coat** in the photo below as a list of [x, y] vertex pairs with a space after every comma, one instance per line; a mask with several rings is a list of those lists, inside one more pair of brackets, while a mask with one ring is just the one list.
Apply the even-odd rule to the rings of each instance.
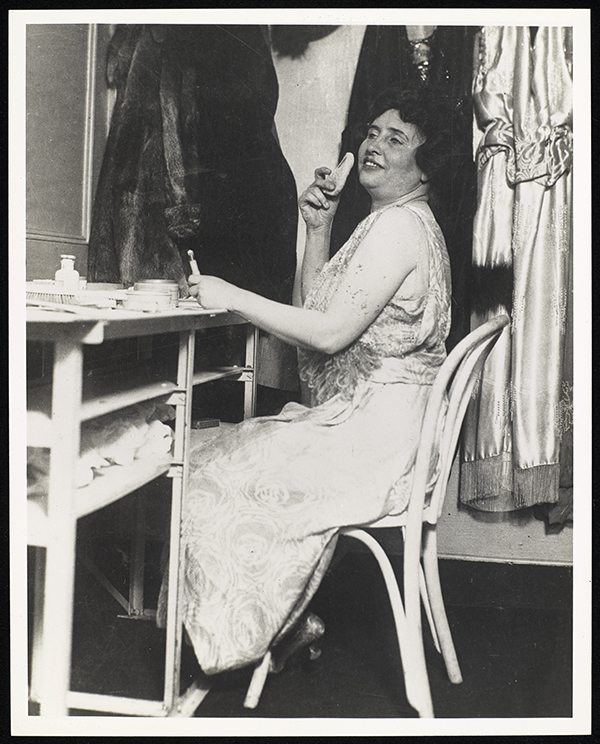
[[26, 31], [26, 278], [48, 279], [60, 254], [87, 274], [93, 191], [108, 133], [109, 26], [30, 24]]

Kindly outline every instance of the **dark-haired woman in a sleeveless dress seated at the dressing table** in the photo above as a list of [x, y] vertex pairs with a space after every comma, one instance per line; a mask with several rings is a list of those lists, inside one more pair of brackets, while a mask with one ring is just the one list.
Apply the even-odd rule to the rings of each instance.
[[313, 407], [242, 422], [193, 450], [183, 517], [183, 619], [202, 669], [259, 659], [298, 620], [339, 528], [406, 508], [430, 385], [445, 358], [450, 272], [428, 206], [447, 146], [427, 91], [380, 99], [358, 150], [372, 208], [328, 262], [339, 186], [299, 200], [303, 307], [196, 277], [225, 307], [300, 349]]

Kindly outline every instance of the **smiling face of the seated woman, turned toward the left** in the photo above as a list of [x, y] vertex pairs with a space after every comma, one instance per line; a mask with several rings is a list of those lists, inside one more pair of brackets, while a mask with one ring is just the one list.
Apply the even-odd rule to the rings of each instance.
[[424, 141], [419, 129], [402, 121], [395, 109], [369, 126], [358, 150], [358, 177], [371, 196], [373, 209], [397, 201], [425, 181], [416, 161], [417, 148]]

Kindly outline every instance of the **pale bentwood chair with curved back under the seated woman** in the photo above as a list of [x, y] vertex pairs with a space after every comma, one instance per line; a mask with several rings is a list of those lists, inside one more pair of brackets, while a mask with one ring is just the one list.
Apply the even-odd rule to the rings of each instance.
[[[455, 684], [462, 682], [440, 586], [436, 526], [467, 405], [481, 379], [490, 351], [509, 322], [506, 315], [500, 315], [479, 326], [456, 345], [441, 366], [423, 418], [412, 493], [406, 511], [371, 524], [341, 530], [342, 535], [360, 540], [377, 559], [394, 615], [406, 697], [421, 718], [434, 715], [423, 647], [421, 601], [434, 645], [442, 654], [450, 681]], [[428, 482], [436, 465], [439, 475], [432, 490], [428, 491]], [[379, 542], [366, 531], [388, 527], [399, 528], [404, 540], [401, 581], [404, 602], [389, 558]], [[254, 670], [244, 702], [247, 708], [258, 704], [270, 664], [271, 652], [268, 651]]]

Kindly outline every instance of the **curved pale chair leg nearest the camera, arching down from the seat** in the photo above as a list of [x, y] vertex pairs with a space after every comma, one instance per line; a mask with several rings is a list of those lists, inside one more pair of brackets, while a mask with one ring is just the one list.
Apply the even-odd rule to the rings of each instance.
[[[420, 718], [433, 718], [433, 703], [429, 687], [429, 677], [425, 665], [423, 635], [420, 623], [418, 627], [408, 627], [402, 597], [398, 589], [396, 575], [389, 558], [374, 537], [360, 529], [346, 529], [343, 534], [354, 537], [364, 543], [375, 556], [392, 606], [396, 636], [400, 647], [404, 685], [408, 702], [417, 711]], [[418, 581], [418, 579], [416, 579]]]

